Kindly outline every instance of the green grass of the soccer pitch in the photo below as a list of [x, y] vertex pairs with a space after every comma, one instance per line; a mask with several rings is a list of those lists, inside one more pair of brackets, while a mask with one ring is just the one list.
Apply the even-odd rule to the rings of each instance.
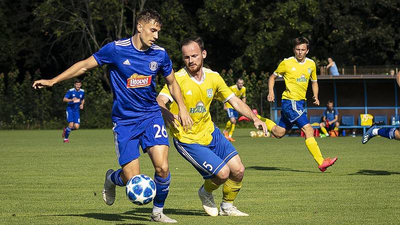
[[[400, 142], [375, 137], [318, 138], [322, 173], [300, 137], [251, 138], [237, 129], [245, 174], [235, 205], [248, 217], [210, 217], [197, 189], [200, 175], [171, 147], [172, 174], [164, 212], [180, 224], [398, 224]], [[61, 130], [0, 130], [0, 223], [152, 224], [151, 204], [136, 206], [117, 188], [112, 206], [101, 198], [104, 173], [117, 168], [111, 129], [80, 129], [62, 143]], [[147, 155], [141, 172], [151, 175]], [[219, 204], [221, 188], [215, 193]]]

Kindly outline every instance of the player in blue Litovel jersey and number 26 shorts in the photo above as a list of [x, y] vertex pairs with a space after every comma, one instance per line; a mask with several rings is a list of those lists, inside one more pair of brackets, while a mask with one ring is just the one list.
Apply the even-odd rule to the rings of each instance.
[[168, 136], [161, 110], [155, 100], [155, 78], [158, 72], [178, 104], [177, 124], [184, 130], [191, 129], [192, 119], [183, 103], [180, 87], [172, 70], [172, 62], [165, 49], [154, 44], [162, 20], [158, 12], [145, 9], [136, 17], [136, 32], [130, 38], [107, 43], [96, 53], [79, 61], [50, 80], [38, 80], [33, 87], [52, 86], [59, 81], [73, 78], [85, 71], [108, 64], [112, 85], [112, 122], [115, 153], [121, 168], [108, 169], [102, 197], [106, 204], [115, 200], [115, 186], [140, 173], [139, 146], [151, 158], [154, 166], [156, 195], [150, 221], [176, 222], [163, 214], [169, 191]]

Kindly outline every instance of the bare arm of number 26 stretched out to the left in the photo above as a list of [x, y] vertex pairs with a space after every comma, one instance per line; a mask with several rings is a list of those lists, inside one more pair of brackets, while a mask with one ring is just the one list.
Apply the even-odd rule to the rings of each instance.
[[36, 89], [41, 88], [44, 86], [52, 86], [55, 83], [58, 83], [62, 80], [70, 79], [76, 76], [79, 76], [86, 72], [87, 70], [90, 70], [92, 68], [97, 67], [97, 61], [94, 59], [93, 56], [90, 56], [86, 58], [85, 60], [78, 61], [75, 64], [73, 64], [71, 67], [67, 68], [65, 71], [63, 71], [61, 74], [58, 76], [52, 78], [52, 79], [40, 79], [40, 80], [35, 80], [33, 82], [32, 87]]

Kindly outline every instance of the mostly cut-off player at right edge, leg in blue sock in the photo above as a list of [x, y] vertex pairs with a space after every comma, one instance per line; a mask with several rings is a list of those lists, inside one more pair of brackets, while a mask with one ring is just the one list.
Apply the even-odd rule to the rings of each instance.
[[[397, 85], [400, 87], [400, 72], [396, 75]], [[398, 118], [400, 120], [400, 116]], [[379, 128], [376, 125], [371, 126], [362, 136], [361, 143], [365, 144], [372, 137], [379, 135], [387, 139], [400, 140], [400, 127], [396, 128]]]

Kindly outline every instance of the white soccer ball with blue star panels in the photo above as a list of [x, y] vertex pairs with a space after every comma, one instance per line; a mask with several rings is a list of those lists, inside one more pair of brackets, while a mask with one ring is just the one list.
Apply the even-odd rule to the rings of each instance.
[[148, 204], [155, 196], [154, 180], [144, 174], [135, 175], [126, 183], [125, 192], [133, 204]]

